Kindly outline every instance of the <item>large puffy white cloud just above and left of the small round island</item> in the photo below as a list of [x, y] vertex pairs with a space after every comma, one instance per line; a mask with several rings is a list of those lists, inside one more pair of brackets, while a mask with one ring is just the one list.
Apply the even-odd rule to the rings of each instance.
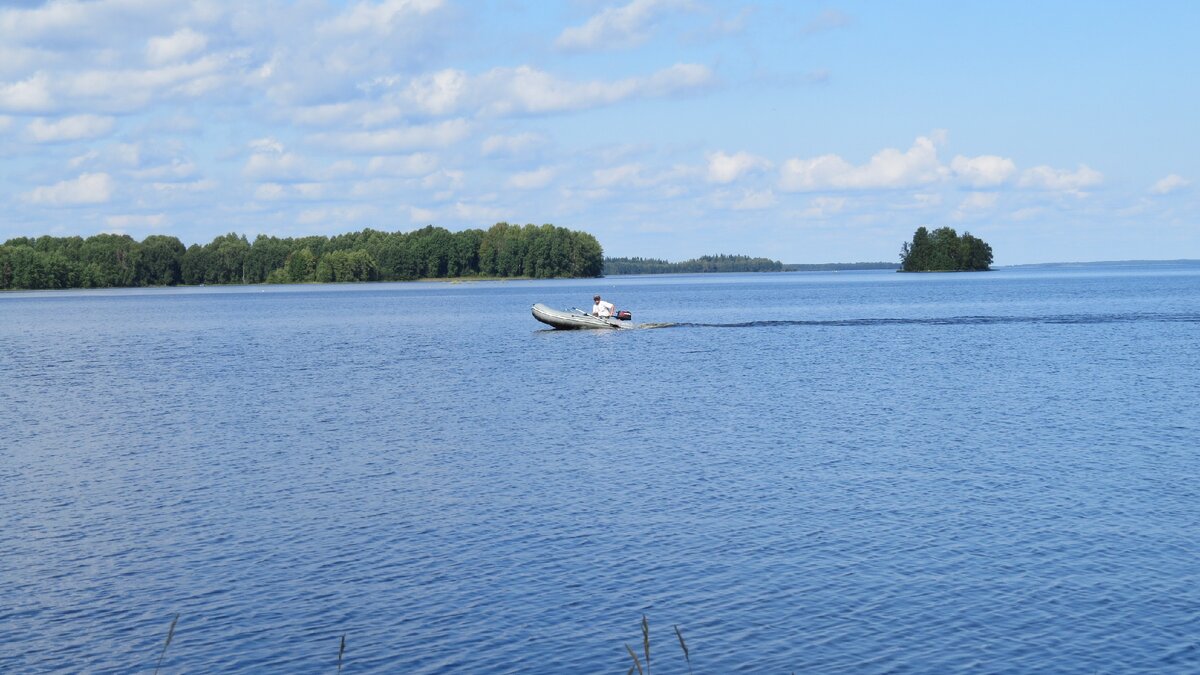
[[908, 150], [901, 153], [887, 148], [857, 167], [838, 155], [787, 160], [781, 171], [780, 187], [800, 192], [894, 189], [935, 183], [947, 173], [937, 160], [937, 141], [938, 135], [922, 136]]

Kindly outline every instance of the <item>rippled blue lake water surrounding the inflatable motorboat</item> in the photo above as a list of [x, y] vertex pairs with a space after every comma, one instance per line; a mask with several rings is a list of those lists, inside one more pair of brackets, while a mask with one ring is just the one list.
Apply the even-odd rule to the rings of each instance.
[[1195, 264], [0, 294], [0, 671], [1195, 673], [1198, 411]]

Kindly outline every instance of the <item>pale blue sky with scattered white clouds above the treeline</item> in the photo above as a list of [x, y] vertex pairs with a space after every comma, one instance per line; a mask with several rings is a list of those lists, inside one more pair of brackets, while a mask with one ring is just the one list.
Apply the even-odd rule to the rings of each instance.
[[1200, 2], [0, 1], [0, 241], [1200, 258]]

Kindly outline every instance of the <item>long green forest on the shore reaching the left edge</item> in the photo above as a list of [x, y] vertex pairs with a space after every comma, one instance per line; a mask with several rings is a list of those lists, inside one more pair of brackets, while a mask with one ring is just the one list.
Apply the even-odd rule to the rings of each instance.
[[0, 245], [0, 289], [403, 281], [428, 277], [600, 276], [595, 237], [552, 225], [450, 232], [364, 229], [336, 237], [223, 234], [185, 247], [151, 234], [18, 237]]

